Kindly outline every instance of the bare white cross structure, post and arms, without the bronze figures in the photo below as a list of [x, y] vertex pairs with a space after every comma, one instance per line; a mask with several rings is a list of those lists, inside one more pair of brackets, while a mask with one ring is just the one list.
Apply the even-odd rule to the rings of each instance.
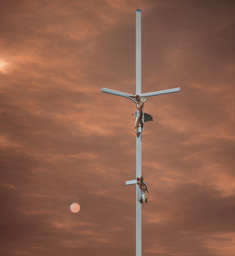
[[[149, 93], [141, 93], [141, 11], [139, 9], [136, 10], [136, 95], [128, 94], [124, 92], [118, 92], [106, 88], [102, 88], [101, 92], [106, 92], [122, 97], [126, 97], [129, 100], [132, 100], [136, 103], [135, 100], [130, 98], [129, 96], [139, 95], [140, 97], [150, 97], [155, 95], [167, 94], [172, 92], [180, 92], [180, 88], [174, 88], [169, 90], [163, 90], [158, 92], [149, 92]], [[145, 98], [145, 100], [147, 99]], [[145, 101], [144, 100], [144, 101]], [[140, 136], [136, 137], [136, 177], [140, 177], [141, 174], [141, 127], [139, 127]], [[126, 181], [126, 185], [137, 184], [137, 180], [128, 180]], [[141, 256], [141, 204], [139, 203], [139, 199], [141, 196], [139, 186], [136, 186], [136, 256]]]

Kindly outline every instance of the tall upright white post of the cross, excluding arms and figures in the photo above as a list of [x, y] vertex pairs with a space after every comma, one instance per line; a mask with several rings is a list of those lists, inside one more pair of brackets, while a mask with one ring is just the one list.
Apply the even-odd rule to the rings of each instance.
[[[136, 10], [136, 94], [141, 94], [141, 11]], [[136, 177], [141, 176], [141, 137], [136, 137]], [[136, 256], [141, 256], [141, 204], [140, 188], [136, 185]]]

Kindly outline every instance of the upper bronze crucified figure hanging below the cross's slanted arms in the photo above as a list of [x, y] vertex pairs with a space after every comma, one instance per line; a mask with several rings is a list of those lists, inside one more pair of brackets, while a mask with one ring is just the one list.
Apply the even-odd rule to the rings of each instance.
[[135, 130], [136, 130], [136, 136], [137, 138], [140, 137], [140, 130], [139, 127], [141, 127], [141, 130], [144, 130], [144, 122], [143, 122], [143, 108], [144, 108], [144, 102], [147, 99], [148, 96], [140, 97], [140, 95], [135, 96], [129, 96], [136, 102], [137, 111], [135, 113]]

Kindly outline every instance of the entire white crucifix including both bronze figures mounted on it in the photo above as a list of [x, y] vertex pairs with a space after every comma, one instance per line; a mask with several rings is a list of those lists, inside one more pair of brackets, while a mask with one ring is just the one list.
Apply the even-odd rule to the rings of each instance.
[[[142, 173], [141, 173], [141, 163], [142, 163], [141, 135], [142, 135], [142, 132], [144, 131], [145, 119], [146, 121], [152, 120], [152, 117], [150, 118], [151, 115], [148, 115], [143, 111], [144, 102], [150, 96], [167, 94], [172, 92], [180, 92], [180, 88], [174, 88], [174, 89], [163, 90], [158, 92], [141, 93], [141, 11], [139, 9], [136, 10], [136, 94], [133, 95], [133, 94], [118, 92], [118, 91], [114, 91], [106, 88], [102, 88], [101, 92], [106, 92], [106, 93], [114, 94], [117, 96], [125, 97], [129, 100], [132, 100], [134, 103], [136, 103], [136, 106], [137, 106], [137, 111], [135, 113], [135, 116], [136, 116], [136, 119], [135, 119], [136, 179], [126, 181], [126, 185], [137, 185], [136, 186], [136, 256], [141, 256], [141, 205], [143, 203], [142, 199], [145, 198], [145, 196], [143, 197], [145, 188], [140, 186], [141, 185], [140, 180], [142, 179], [141, 181], [142, 186], [144, 186], [147, 183], [147, 182], [143, 182]], [[141, 176], [141, 179], [140, 179], [140, 176]], [[146, 186], [146, 190], [147, 190], [147, 186]]]

